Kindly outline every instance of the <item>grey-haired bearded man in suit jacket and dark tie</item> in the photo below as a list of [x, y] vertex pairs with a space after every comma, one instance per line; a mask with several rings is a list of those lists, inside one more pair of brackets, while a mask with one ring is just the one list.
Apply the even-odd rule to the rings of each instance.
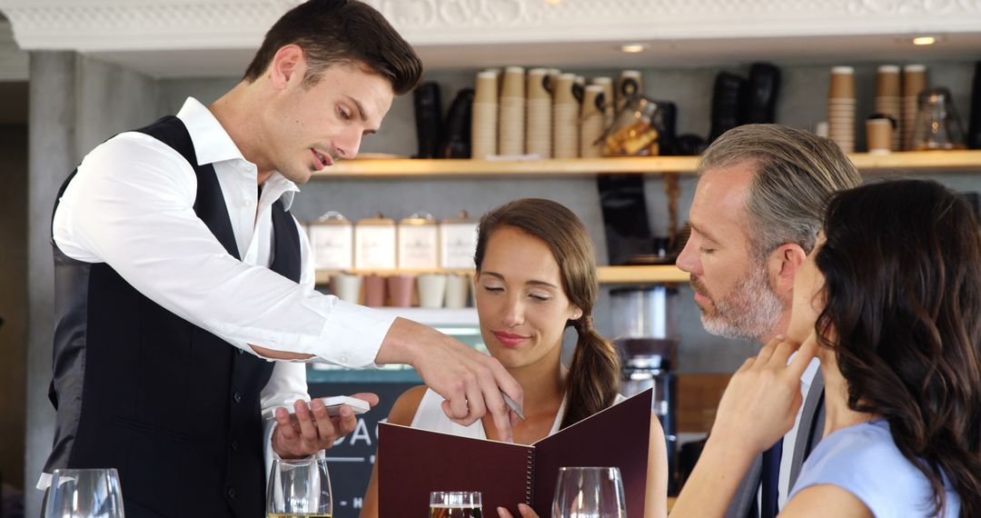
[[[817, 240], [825, 204], [861, 177], [831, 140], [780, 125], [730, 129], [705, 150], [698, 173], [692, 235], [677, 264], [692, 274], [702, 325], [714, 335], [760, 343], [786, 334], [794, 278]], [[774, 516], [820, 440], [824, 383], [816, 360], [800, 382], [797, 425], [754, 463], [727, 517]]]

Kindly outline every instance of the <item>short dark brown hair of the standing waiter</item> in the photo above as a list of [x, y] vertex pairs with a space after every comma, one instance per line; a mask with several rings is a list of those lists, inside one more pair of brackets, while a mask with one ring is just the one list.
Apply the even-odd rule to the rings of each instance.
[[316, 84], [332, 65], [367, 67], [387, 78], [395, 95], [415, 88], [423, 75], [412, 46], [381, 13], [357, 0], [309, 0], [289, 10], [266, 32], [244, 80], [261, 77], [277, 51], [289, 44], [303, 49], [307, 86]]

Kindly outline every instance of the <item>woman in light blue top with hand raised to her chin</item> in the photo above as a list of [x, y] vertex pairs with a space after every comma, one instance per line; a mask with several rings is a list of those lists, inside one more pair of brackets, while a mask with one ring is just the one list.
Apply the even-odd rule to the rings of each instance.
[[725, 508], [794, 425], [816, 354], [824, 438], [783, 515], [981, 516], [981, 228], [966, 201], [935, 181], [838, 193], [794, 298], [788, 339], [733, 377], [672, 515]]

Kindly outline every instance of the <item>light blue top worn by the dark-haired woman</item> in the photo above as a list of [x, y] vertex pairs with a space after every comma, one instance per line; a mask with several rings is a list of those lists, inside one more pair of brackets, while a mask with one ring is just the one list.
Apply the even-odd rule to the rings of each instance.
[[[933, 516], [930, 483], [896, 447], [885, 419], [837, 430], [818, 442], [790, 497], [818, 484], [851, 492], [876, 518]], [[942, 516], [957, 518], [959, 511], [960, 498], [948, 486]]]

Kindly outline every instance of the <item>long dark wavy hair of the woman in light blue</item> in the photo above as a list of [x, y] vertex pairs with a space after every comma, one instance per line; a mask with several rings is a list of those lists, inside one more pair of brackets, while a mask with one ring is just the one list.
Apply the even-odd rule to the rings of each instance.
[[836, 352], [854, 411], [882, 415], [903, 455], [944, 477], [961, 516], [981, 516], [981, 228], [935, 181], [884, 181], [828, 206], [815, 258], [826, 307], [815, 329]]

